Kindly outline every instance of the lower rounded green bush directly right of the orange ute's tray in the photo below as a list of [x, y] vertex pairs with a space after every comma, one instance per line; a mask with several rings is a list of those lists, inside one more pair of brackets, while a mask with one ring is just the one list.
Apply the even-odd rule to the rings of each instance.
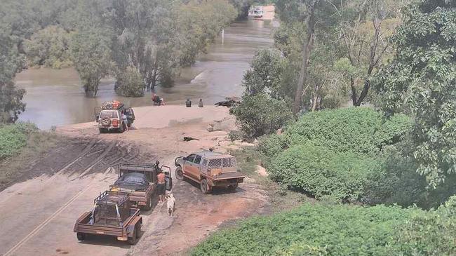
[[382, 163], [351, 152], [334, 152], [303, 144], [283, 151], [271, 161], [272, 180], [316, 198], [358, 201], [370, 173], [383, 173]]

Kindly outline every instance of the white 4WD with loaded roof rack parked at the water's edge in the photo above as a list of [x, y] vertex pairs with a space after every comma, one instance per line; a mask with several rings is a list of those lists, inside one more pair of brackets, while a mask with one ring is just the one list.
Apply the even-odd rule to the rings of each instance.
[[[122, 120], [122, 113], [127, 116], [127, 122]], [[132, 108], [126, 108], [118, 101], [105, 102], [102, 107], [95, 107], [95, 122], [98, 123], [100, 133], [108, 133], [116, 130], [123, 132], [135, 121], [135, 112]]]

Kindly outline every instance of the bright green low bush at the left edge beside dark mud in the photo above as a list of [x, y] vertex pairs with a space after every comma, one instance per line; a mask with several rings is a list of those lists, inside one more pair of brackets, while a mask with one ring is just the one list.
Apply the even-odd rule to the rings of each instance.
[[32, 123], [0, 126], [0, 159], [18, 153], [27, 144], [27, 135], [37, 130]]

